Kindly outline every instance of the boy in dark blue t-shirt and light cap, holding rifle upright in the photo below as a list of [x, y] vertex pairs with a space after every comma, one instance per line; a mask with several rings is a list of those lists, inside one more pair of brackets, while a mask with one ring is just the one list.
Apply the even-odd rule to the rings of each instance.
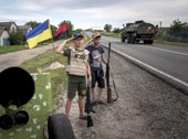
[[92, 36], [93, 44], [88, 45], [86, 50], [90, 51], [90, 65], [91, 65], [91, 71], [92, 71], [92, 100], [95, 101], [95, 84], [97, 82], [98, 84], [98, 95], [97, 95], [97, 103], [98, 104], [104, 104], [102, 101], [102, 94], [103, 94], [103, 88], [105, 87], [104, 84], [104, 71], [103, 71], [103, 65], [102, 63], [106, 64], [106, 61], [104, 58], [104, 49], [101, 45], [101, 34], [95, 33]]

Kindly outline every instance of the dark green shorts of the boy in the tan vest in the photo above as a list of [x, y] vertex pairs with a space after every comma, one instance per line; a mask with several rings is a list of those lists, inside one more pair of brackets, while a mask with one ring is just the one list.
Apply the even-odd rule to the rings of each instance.
[[67, 98], [73, 99], [76, 96], [86, 95], [86, 78], [85, 76], [69, 75], [67, 82]]

